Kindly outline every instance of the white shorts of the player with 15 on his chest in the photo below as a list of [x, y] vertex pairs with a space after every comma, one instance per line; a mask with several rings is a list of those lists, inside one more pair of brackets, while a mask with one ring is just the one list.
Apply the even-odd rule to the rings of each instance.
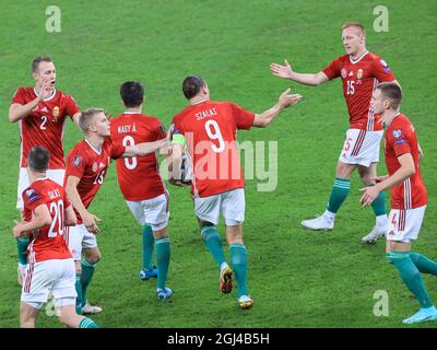
[[366, 167], [379, 162], [379, 143], [382, 135], [383, 131], [349, 129], [339, 161]]

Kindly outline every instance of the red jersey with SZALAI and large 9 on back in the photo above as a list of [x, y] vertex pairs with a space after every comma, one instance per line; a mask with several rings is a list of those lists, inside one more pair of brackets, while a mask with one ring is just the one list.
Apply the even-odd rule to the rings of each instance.
[[172, 135], [184, 135], [193, 170], [191, 191], [209, 197], [245, 187], [237, 129], [250, 129], [255, 114], [229, 102], [200, 101], [176, 115]]

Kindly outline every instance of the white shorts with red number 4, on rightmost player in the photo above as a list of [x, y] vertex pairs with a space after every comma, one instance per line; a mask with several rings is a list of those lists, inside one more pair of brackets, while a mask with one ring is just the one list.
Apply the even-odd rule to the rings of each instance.
[[417, 240], [426, 206], [415, 209], [391, 209], [387, 241], [410, 243]]

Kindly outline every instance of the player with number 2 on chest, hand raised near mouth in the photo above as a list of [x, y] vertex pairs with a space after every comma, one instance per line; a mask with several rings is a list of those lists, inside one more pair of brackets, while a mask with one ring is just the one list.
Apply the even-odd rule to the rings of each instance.
[[[21, 194], [29, 184], [26, 166], [29, 150], [40, 145], [50, 152], [48, 178], [62, 185], [66, 173], [62, 136], [67, 116], [75, 122], [80, 110], [73, 97], [56, 90], [56, 68], [49, 57], [36, 57], [32, 62], [34, 88], [19, 88], [9, 108], [9, 121], [20, 124], [21, 158], [16, 209], [23, 210]], [[17, 240], [19, 283], [27, 264], [27, 237]]]

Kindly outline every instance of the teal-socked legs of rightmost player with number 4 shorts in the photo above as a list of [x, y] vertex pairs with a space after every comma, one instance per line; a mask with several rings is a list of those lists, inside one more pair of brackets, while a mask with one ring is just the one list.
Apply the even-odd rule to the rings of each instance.
[[386, 256], [388, 261], [394, 265], [402, 281], [421, 304], [420, 311], [413, 316], [403, 319], [402, 323], [416, 324], [437, 320], [437, 308], [434, 306], [421, 276], [422, 270], [430, 265], [434, 265], [433, 268], [436, 270], [437, 264], [424, 256], [422, 256], [423, 262], [428, 260], [426, 265], [420, 264], [420, 261], [414, 262], [411, 258], [410, 249], [411, 245], [409, 243], [387, 241]]

